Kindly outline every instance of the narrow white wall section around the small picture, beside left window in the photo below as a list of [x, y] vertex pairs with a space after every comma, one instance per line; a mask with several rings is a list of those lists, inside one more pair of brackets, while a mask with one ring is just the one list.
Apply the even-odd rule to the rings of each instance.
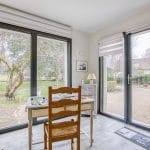
[[89, 36], [86, 33], [72, 31], [72, 85], [78, 86], [82, 79], [86, 79], [88, 72], [77, 72], [76, 61], [89, 58]]

